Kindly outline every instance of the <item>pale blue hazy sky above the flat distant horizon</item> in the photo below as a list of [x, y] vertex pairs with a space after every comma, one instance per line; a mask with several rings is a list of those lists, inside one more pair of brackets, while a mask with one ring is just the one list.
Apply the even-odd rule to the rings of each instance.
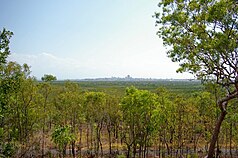
[[58, 79], [193, 78], [176, 73], [156, 35], [158, 0], [0, 0], [9, 60]]

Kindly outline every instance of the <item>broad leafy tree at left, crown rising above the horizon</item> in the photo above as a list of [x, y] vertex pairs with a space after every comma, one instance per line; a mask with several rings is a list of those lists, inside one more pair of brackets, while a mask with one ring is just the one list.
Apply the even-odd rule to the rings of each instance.
[[[2, 129], [5, 133], [5, 143], [21, 144], [18, 154], [28, 152], [35, 144], [33, 133], [38, 129], [39, 121], [37, 87], [34, 77], [29, 76], [29, 67], [8, 62], [1, 79], [1, 91], [4, 93], [5, 113]], [[7, 107], [7, 108], [6, 108]]]

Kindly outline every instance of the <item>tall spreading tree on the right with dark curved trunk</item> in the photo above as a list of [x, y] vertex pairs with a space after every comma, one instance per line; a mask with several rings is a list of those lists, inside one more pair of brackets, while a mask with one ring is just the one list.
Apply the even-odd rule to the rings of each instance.
[[203, 81], [223, 86], [220, 116], [208, 157], [214, 155], [228, 102], [238, 96], [238, 4], [235, 0], [162, 0], [156, 13], [158, 35], [168, 56], [180, 63], [178, 72], [191, 72]]

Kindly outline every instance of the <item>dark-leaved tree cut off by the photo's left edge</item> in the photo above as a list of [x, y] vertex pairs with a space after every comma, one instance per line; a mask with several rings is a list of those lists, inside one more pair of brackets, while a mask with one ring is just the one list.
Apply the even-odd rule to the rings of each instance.
[[[9, 102], [13, 87], [16, 85], [7, 79], [5, 69], [7, 67], [7, 57], [10, 55], [10, 38], [13, 33], [3, 28], [0, 31], [0, 154], [11, 156], [13, 152], [5, 153], [4, 150], [9, 146], [12, 138], [8, 138], [10, 127], [7, 125], [7, 115], [10, 112]], [[12, 77], [13, 78], [13, 77]], [[8, 130], [9, 129], [9, 130]], [[10, 151], [10, 150], [9, 150]], [[12, 150], [13, 151], [13, 150]]]

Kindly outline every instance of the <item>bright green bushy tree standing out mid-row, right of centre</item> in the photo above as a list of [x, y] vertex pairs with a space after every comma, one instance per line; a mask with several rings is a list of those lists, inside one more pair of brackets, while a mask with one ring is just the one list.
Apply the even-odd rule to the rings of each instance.
[[130, 157], [131, 148], [135, 157], [137, 145], [139, 157], [145, 157], [149, 141], [158, 127], [160, 108], [157, 95], [135, 87], [127, 88], [121, 101], [121, 108], [123, 140], [127, 145], [127, 157]]

